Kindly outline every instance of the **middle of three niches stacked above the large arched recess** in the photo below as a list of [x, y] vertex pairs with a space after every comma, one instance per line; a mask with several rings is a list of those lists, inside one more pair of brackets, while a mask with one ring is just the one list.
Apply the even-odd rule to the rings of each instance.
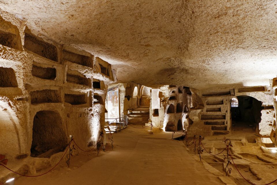
[[56, 69], [50, 67], [39, 67], [33, 65], [32, 75], [42, 79], [54, 80], [56, 78]]

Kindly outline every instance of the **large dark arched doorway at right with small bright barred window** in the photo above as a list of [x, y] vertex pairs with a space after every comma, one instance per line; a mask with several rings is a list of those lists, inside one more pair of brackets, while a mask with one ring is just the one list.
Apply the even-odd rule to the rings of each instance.
[[262, 102], [250, 96], [231, 99], [231, 118], [234, 126], [257, 126], [261, 122]]

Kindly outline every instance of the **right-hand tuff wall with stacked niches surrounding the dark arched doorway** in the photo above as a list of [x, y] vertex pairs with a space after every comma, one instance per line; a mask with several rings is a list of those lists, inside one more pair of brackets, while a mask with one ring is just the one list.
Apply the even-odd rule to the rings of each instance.
[[[238, 96], [250, 96], [262, 102], [261, 113], [259, 111], [254, 112], [255, 121], [257, 121], [256, 131], [261, 136], [268, 137], [270, 135], [275, 119], [274, 94], [271, 86], [238, 86], [233, 89], [205, 92], [196, 89], [191, 90], [203, 102], [203, 107], [191, 109], [190, 119], [193, 121], [193, 125], [188, 128], [188, 133], [191, 136], [194, 134], [208, 136], [229, 133], [232, 129], [231, 99]], [[261, 119], [258, 114], [261, 114]]]

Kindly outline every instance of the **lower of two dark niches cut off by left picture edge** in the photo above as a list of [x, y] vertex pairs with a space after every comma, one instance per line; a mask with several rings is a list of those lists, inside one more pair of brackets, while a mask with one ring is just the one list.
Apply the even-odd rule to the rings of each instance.
[[0, 87], [17, 87], [15, 72], [12, 68], [0, 67]]

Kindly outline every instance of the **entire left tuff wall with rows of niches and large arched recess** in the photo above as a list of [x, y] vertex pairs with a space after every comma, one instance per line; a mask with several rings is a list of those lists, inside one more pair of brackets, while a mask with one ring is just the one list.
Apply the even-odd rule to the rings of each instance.
[[106, 98], [113, 73], [99, 57], [7, 17], [0, 18], [0, 153], [34, 173], [60, 159], [70, 135], [83, 149], [96, 145], [105, 105], [94, 96]]

